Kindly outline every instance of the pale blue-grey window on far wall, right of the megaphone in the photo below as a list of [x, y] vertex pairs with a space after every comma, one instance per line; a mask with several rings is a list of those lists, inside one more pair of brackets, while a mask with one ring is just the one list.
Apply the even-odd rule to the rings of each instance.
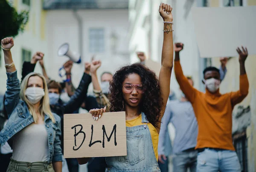
[[102, 28], [89, 30], [89, 51], [104, 52], [105, 51], [105, 31]]

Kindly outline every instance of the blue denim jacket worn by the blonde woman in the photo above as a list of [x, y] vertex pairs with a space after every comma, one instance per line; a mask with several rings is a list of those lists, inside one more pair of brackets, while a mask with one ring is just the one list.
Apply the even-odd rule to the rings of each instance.
[[[17, 71], [6, 74], [7, 91], [5, 94], [5, 107], [9, 120], [6, 126], [0, 132], [0, 144], [2, 146], [17, 132], [34, 122], [33, 117], [29, 112], [28, 106], [24, 101], [20, 100], [20, 81], [17, 78]], [[52, 120], [48, 115], [44, 116], [44, 123], [48, 134], [48, 163], [62, 161], [60, 140], [61, 118], [54, 113], [53, 115], [56, 120], [55, 123], [52, 123]], [[12, 144], [10, 144], [10, 146], [12, 147]]]

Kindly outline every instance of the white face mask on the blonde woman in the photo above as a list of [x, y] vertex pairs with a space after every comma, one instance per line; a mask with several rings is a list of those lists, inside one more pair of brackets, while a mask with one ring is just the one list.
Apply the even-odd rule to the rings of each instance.
[[32, 104], [38, 103], [44, 97], [44, 89], [38, 87], [29, 87], [25, 92], [26, 97]]

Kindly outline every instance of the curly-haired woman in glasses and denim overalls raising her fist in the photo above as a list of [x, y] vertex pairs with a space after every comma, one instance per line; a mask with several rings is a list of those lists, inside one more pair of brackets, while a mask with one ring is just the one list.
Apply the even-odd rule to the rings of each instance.
[[[164, 20], [162, 66], [159, 80], [154, 72], [135, 63], [120, 68], [110, 83], [110, 112], [125, 111], [127, 156], [107, 157], [108, 172], [159, 172], [157, 145], [170, 91], [173, 66], [172, 8], [161, 3], [159, 12]], [[104, 109], [89, 113], [98, 120]], [[78, 158], [80, 164], [90, 158]]]

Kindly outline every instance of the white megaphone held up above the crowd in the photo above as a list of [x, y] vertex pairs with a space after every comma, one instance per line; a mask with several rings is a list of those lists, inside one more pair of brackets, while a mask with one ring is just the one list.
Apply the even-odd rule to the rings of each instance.
[[[68, 43], [64, 43], [62, 44], [57, 52], [58, 56], [67, 56], [70, 58], [71, 61], [73, 61], [74, 63], [81, 63], [81, 55], [79, 53], [75, 53], [70, 51], [69, 49], [69, 44]], [[58, 74], [60, 77], [63, 77], [65, 74], [63, 74], [64, 72], [62, 72], [64, 69], [64, 66], [61, 66], [61, 68], [58, 71]], [[68, 80], [64, 80], [64, 82], [67, 82]]]

